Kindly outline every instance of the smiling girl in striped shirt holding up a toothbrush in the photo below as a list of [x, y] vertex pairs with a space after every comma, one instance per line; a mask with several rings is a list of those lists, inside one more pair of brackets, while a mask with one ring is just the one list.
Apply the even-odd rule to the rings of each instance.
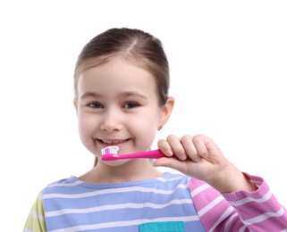
[[[169, 66], [161, 42], [109, 29], [80, 53], [74, 105], [95, 167], [38, 195], [24, 231], [282, 231], [287, 212], [262, 178], [242, 173], [204, 135], [158, 141], [165, 157], [104, 162], [101, 150], [148, 151], [168, 121]], [[173, 157], [172, 157], [173, 156]], [[165, 166], [182, 174], [161, 173]]]

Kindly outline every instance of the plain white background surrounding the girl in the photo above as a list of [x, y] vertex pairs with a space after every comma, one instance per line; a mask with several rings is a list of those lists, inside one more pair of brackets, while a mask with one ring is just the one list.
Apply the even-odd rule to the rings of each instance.
[[21, 231], [42, 187], [92, 167], [73, 68], [82, 46], [114, 27], [164, 43], [176, 106], [158, 137], [212, 137], [287, 206], [286, 12], [286, 1], [2, 1], [0, 230]]

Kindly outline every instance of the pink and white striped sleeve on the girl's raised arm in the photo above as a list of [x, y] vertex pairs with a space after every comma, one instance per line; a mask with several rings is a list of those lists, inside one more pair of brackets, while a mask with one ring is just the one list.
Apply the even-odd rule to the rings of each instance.
[[220, 194], [215, 188], [190, 178], [190, 194], [207, 231], [283, 231], [287, 212], [277, 202], [263, 178], [244, 175], [256, 186], [254, 192]]

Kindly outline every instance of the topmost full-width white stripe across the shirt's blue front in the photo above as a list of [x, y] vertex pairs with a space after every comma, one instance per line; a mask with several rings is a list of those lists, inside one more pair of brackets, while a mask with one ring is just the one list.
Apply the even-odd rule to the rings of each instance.
[[185, 184], [180, 184], [176, 186], [173, 190], [159, 190], [156, 188], [147, 188], [147, 187], [140, 187], [140, 186], [129, 186], [129, 187], [122, 187], [122, 188], [110, 188], [105, 190], [93, 191], [90, 193], [83, 193], [83, 194], [46, 194], [42, 196], [42, 199], [48, 198], [82, 198], [82, 197], [89, 197], [94, 195], [106, 195], [106, 194], [114, 194], [114, 193], [126, 193], [126, 192], [142, 192], [142, 193], [155, 193], [155, 194], [162, 194], [162, 195], [171, 195], [177, 189], [186, 189]]

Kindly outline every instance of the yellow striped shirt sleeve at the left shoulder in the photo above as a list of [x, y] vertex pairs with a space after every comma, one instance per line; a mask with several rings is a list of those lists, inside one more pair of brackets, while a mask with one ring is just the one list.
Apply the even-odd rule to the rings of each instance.
[[23, 232], [46, 232], [42, 192], [38, 195], [26, 220]]

